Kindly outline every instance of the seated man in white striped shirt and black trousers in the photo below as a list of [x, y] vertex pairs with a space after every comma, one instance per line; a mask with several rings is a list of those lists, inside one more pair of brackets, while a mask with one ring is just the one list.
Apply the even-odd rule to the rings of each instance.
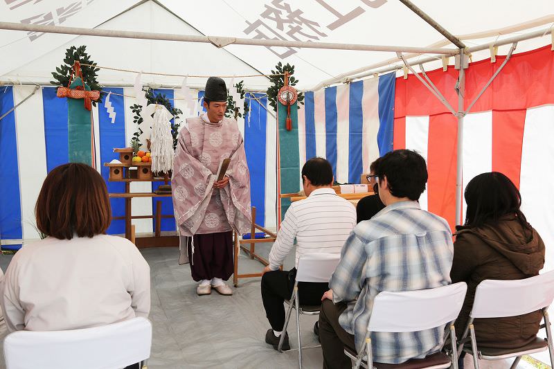
[[[356, 209], [332, 189], [333, 172], [328, 161], [312, 158], [302, 168], [302, 183], [307, 199], [292, 203], [269, 253], [269, 265], [262, 276], [262, 300], [271, 329], [265, 341], [277, 350], [285, 325], [285, 298], [290, 298], [298, 259], [307, 253], [341, 253], [342, 246], [356, 225]], [[285, 256], [296, 238], [296, 259], [290, 271], [280, 271]], [[320, 305], [327, 283], [298, 283], [299, 302]], [[285, 332], [283, 350], [289, 350]]]

